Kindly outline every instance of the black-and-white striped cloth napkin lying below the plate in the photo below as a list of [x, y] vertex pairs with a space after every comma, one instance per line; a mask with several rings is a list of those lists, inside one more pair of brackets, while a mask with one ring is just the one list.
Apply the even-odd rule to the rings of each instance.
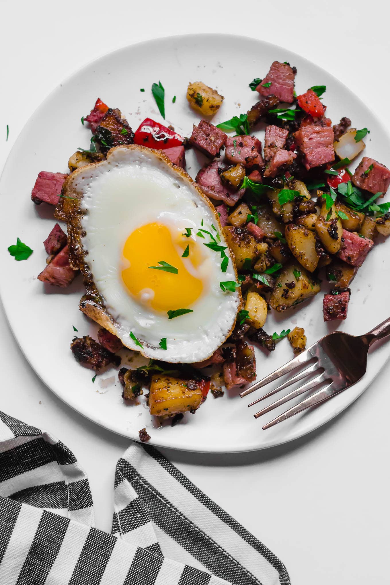
[[116, 466], [112, 532], [88, 479], [47, 432], [0, 412], [2, 585], [289, 585], [281, 561], [161, 453]]

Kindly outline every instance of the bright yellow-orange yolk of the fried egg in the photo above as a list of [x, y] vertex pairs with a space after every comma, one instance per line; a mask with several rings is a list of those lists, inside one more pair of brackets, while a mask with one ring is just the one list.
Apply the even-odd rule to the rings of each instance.
[[[188, 257], [182, 258], [187, 245]], [[175, 245], [167, 226], [147, 223], [136, 229], [126, 240], [123, 256], [130, 262], [129, 268], [122, 270], [123, 283], [134, 297], [156, 311], [186, 309], [201, 295], [202, 280], [186, 267], [195, 272], [201, 263], [199, 246], [183, 236]], [[161, 262], [177, 269], [177, 274], [151, 268], [161, 266]]]

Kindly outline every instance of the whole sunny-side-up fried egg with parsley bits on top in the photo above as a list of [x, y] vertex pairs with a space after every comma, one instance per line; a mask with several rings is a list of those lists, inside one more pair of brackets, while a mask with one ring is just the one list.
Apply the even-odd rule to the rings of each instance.
[[185, 171], [144, 147], [116, 147], [76, 173], [66, 195], [80, 200], [84, 270], [111, 331], [153, 359], [208, 358], [240, 305], [215, 208]]

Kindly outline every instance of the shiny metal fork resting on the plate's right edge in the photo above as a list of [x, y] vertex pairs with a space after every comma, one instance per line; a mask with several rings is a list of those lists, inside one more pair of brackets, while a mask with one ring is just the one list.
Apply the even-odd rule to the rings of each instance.
[[270, 412], [274, 408], [285, 404], [292, 398], [299, 396], [310, 390], [317, 388], [314, 394], [305, 398], [299, 404], [289, 408], [279, 417], [274, 418], [263, 426], [263, 429], [269, 429], [271, 426], [277, 425], [278, 422], [285, 421], [287, 418], [294, 417], [298, 412], [306, 410], [306, 408], [313, 407], [317, 404], [322, 404], [326, 400], [333, 398], [336, 394], [340, 394], [346, 388], [353, 386], [363, 378], [367, 369], [367, 354], [371, 344], [378, 339], [383, 339], [390, 335], [390, 318], [383, 323], [365, 333], [365, 335], [348, 335], [342, 331], [329, 333], [316, 343], [313, 343], [308, 349], [294, 357], [290, 362], [269, 374], [263, 380], [252, 384], [241, 392], [240, 396], [243, 398], [265, 386], [266, 384], [277, 380], [281, 376], [293, 372], [300, 368], [299, 372], [289, 378], [284, 384], [274, 388], [261, 398], [251, 402], [248, 406], [253, 406], [261, 400], [268, 398], [277, 392], [284, 390], [291, 384], [310, 378], [308, 381], [299, 386], [289, 394], [285, 395], [279, 400], [272, 402], [269, 406], [256, 412], [254, 418], [261, 417], [266, 412]]

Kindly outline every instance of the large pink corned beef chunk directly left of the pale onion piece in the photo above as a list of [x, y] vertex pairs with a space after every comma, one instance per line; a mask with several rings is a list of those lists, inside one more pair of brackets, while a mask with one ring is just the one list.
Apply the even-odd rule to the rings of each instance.
[[305, 157], [307, 170], [322, 164], [333, 163], [333, 128], [309, 124], [295, 132], [295, 142]]

